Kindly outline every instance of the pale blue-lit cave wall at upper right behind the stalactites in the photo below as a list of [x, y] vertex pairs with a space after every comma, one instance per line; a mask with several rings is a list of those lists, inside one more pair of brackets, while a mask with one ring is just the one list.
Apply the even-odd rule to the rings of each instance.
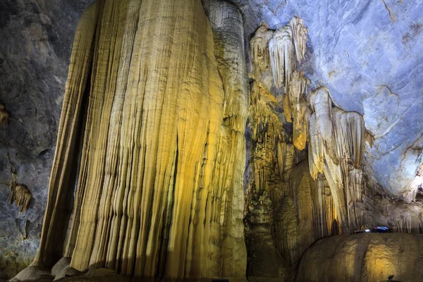
[[338, 106], [364, 116], [376, 138], [367, 170], [391, 197], [413, 200], [423, 147], [423, 1], [233, 2], [247, 37], [263, 21], [276, 30], [292, 16], [304, 19], [309, 63], [302, 68], [312, 89], [329, 87]]

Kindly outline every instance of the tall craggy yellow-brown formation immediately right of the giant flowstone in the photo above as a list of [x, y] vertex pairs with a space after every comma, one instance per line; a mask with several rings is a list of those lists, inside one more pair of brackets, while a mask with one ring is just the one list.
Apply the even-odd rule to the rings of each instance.
[[[293, 23], [297, 22], [302, 23], [300, 19], [293, 19], [281, 30], [292, 30]], [[306, 30], [303, 25], [302, 30]], [[286, 70], [278, 65], [278, 73], [283, 76], [289, 73], [290, 80], [284, 94], [274, 95], [269, 91], [268, 80], [269, 75], [275, 79], [277, 75], [267, 71], [268, 57], [264, 52], [270, 50], [269, 58], [275, 55], [270, 47], [263, 45], [270, 33], [266, 25], [262, 25], [250, 42], [255, 80], [251, 84], [248, 124], [251, 157], [245, 211], [247, 274], [289, 280], [302, 253], [314, 240], [339, 231], [335, 202], [328, 184], [324, 177], [314, 180], [307, 163], [309, 109], [306, 90], [309, 80], [295, 70], [294, 48], [301, 47], [301, 58], [305, 51], [302, 40], [306, 35], [295, 37], [302, 42], [293, 42], [290, 38], [292, 49], [277, 47], [276, 41], [269, 42], [282, 52], [278, 58], [291, 56], [295, 59]], [[283, 53], [286, 51], [290, 54]], [[280, 80], [283, 81], [288, 80]]]

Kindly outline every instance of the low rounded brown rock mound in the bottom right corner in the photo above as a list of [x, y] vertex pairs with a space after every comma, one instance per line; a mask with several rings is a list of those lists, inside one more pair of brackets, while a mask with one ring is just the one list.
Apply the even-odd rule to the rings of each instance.
[[422, 281], [422, 234], [357, 234], [318, 240], [295, 281]]

